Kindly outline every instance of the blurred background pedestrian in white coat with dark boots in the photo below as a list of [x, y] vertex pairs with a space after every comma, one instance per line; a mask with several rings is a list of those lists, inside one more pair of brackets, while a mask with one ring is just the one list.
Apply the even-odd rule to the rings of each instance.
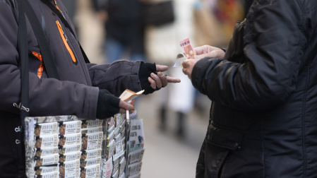
[[[154, 3], [162, 1], [165, 0], [152, 0]], [[186, 117], [193, 109], [194, 88], [191, 81], [182, 73], [181, 68], [172, 68], [172, 66], [177, 54], [182, 52], [179, 41], [189, 37], [191, 43], [195, 44], [193, 39], [194, 1], [196, 0], [174, 0], [174, 22], [160, 26], [148, 25], [145, 28], [145, 51], [148, 61], [170, 66], [169, 74], [181, 79], [179, 85], [157, 93], [160, 129], [162, 131], [167, 129], [167, 123], [172, 120], [167, 118], [167, 113], [171, 110], [176, 114], [176, 133], [179, 138], [184, 138], [186, 133]]]

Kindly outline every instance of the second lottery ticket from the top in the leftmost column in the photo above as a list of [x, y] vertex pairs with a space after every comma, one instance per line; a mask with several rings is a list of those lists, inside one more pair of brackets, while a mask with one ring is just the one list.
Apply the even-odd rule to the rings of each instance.
[[59, 144], [59, 136], [55, 133], [49, 136], [38, 136], [35, 140], [35, 148], [52, 148]]

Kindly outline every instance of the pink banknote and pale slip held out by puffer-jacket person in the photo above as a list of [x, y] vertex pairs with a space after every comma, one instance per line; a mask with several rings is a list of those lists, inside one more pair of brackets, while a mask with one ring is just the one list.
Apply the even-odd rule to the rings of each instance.
[[195, 52], [193, 52], [193, 47], [191, 47], [191, 42], [189, 42], [189, 38], [182, 40], [179, 42], [181, 45], [181, 49], [183, 49], [184, 54], [177, 54], [177, 61], [175, 62], [173, 67], [183, 67], [181, 66], [181, 62], [186, 59], [194, 59]]

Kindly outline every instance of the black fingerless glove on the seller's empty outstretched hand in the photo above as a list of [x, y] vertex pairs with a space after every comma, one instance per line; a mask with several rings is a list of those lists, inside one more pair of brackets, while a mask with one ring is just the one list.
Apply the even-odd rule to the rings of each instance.
[[140, 70], [138, 71], [138, 78], [140, 78], [141, 88], [144, 91], [144, 95], [148, 95], [150, 93], [155, 92], [155, 89], [153, 89], [150, 85], [150, 82], [148, 81], [148, 78], [150, 77], [151, 73], [156, 72], [156, 65], [155, 63], [141, 63], [140, 64]]

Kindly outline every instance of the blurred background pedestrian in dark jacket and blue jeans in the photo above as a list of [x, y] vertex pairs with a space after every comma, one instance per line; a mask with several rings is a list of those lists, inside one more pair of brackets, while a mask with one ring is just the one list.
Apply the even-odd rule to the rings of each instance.
[[123, 57], [145, 60], [144, 32], [140, 23], [139, 0], [93, 0], [97, 17], [104, 23], [105, 62]]

